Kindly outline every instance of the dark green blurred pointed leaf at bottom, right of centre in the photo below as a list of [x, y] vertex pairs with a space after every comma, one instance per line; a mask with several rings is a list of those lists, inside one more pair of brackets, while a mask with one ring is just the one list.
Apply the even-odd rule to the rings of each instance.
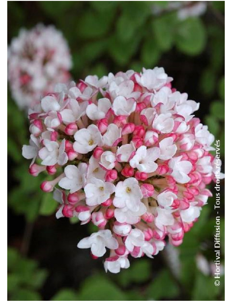
[[154, 278], [147, 289], [148, 299], [153, 300], [161, 300], [161, 298], [173, 299], [178, 294], [179, 288], [167, 270], [161, 271], [159, 275]]

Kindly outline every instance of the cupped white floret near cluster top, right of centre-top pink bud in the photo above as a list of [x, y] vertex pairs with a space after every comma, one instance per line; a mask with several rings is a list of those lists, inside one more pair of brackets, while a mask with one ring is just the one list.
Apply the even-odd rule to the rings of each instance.
[[135, 111], [136, 102], [133, 98], [124, 98], [123, 96], [118, 96], [113, 101], [113, 111], [116, 115], [129, 116]]

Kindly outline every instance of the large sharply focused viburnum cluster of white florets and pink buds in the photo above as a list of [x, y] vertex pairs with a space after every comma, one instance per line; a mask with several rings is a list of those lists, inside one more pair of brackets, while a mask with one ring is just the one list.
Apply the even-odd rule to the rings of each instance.
[[97, 226], [78, 247], [93, 258], [109, 249], [106, 271], [128, 268], [129, 256], [153, 258], [166, 238], [180, 245], [211, 196], [206, 185], [223, 177], [214, 137], [194, 116], [199, 103], [171, 81], [158, 67], [87, 76], [29, 111], [29, 171], [54, 175], [41, 189], [54, 190], [57, 218]]

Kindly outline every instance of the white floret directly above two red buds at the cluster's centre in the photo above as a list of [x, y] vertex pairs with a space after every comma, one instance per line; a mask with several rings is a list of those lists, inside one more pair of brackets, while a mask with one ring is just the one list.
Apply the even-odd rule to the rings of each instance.
[[141, 146], [136, 150], [135, 156], [130, 160], [130, 165], [132, 168], [137, 168], [141, 172], [154, 172], [158, 167], [155, 160], [157, 160], [159, 155], [159, 148], [152, 147], [147, 149], [147, 147]]

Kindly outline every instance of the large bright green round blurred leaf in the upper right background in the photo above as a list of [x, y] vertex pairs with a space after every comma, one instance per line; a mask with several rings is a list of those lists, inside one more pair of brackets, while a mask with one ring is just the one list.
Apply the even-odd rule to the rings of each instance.
[[177, 48], [187, 55], [197, 55], [205, 48], [206, 32], [199, 18], [188, 18], [180, 22], [176, 35]]

